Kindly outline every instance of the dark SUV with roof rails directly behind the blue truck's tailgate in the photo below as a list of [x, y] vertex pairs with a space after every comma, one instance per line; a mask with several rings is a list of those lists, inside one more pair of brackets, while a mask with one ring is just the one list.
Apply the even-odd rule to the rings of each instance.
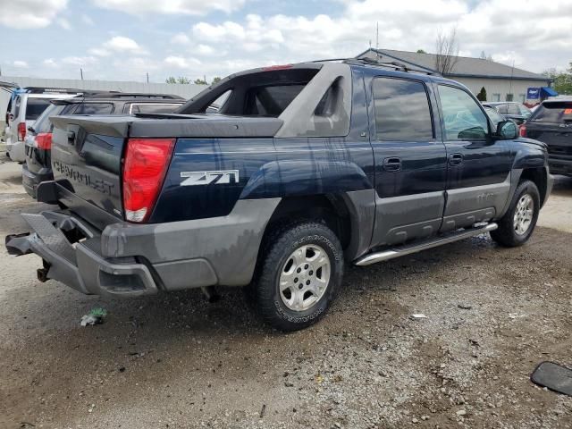
[[90, 93], [53, 101], [29, 127], [25, 144], [26, 163], [22, 166], [22, 184], [26, 192], [36, 198], [42, 181], [54, 178], [51, 165], [52, 123], [58, 114], [164, 114], [181, 107], [184, 98], [165, 94], [126, 94], [120, 92]]

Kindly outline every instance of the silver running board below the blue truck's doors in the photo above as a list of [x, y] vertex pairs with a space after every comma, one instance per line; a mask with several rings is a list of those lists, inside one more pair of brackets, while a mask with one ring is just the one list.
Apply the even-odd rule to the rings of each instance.
[[436, 248], [437, 246], [441, 246], [442, 244], [448, 244], [454, 241], [468, 239], [469, 237], [474, 237], [475, 235], [479, 235], [484, 232], [494, 231], [498, 227], [499, 225], [497, 225], [496, 223], [488, 223], [478, 228], [471, 228], [470, 230], [453, 232], [445, 237], [440, 237], [434, 240], [428, 240], [423, 243], [410, 244], [410, 245], [400, 246], [398, 248], [389, 248], [381, 252], [368, 253], [367, 255], [358, 258], [354, 264], [358, 266], [372, 265], [377, 262], [393, 259], [394, 257], [403, 257], [411, 253], [420, 252], [422, 250], [426, 250], [427, 248]]

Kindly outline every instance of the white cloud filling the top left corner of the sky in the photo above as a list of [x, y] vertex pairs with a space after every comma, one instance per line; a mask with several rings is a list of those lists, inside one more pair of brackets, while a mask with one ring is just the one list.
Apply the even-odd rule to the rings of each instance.
[[47, 27], [68, 0], [2, 0], [0, 24], [13, 29], [39, 29]]

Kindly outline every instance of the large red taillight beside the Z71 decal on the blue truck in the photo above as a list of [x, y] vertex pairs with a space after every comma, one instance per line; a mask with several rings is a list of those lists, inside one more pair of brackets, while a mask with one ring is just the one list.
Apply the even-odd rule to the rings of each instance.
[[153, 211], [171, 162], [175, 139], [129, 139], [123, 164], [123, 209], [130, 222], [145, 222]]

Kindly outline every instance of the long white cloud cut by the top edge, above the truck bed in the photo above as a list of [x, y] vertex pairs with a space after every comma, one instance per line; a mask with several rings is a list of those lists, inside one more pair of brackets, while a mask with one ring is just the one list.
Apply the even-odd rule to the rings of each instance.
[[98, 7], [132, 15], [143, 13], [205, 15], [214, 11], [231, 13], [239, 10], [246, 0], [93, 0]]

